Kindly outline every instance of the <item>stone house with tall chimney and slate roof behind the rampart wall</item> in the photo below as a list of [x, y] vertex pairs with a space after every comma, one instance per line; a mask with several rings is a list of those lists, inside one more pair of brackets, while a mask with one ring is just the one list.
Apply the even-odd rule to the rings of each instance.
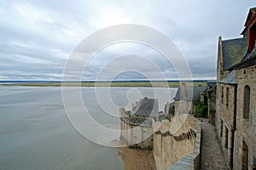
[[183, 113], [194, 115], [196, 102], [203, 102], [206, 98], [206, 92], [206, 86], [187, 86], [186, 82], [182, 82], [173, 98], [175, 115]]

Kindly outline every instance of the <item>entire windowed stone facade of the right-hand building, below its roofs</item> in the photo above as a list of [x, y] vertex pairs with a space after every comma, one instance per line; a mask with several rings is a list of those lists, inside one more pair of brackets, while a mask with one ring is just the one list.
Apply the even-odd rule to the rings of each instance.
[[[241, 169], [247, 162], [247, 168], [253, 169], [256, 168], [256, 66], [236, 70], [236, 82], [237, 85], [218, 82], [218, 138], [230, 167]], [[251, 97], [248, 118], [243, 116], [246, 86]]]

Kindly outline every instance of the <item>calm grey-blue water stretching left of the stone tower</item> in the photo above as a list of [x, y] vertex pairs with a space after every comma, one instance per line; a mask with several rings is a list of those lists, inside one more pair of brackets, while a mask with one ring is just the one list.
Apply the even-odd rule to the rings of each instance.
[[[97, 99], [108, 98], [100, 94], [96, 97], [95, 88], [81, 88], [81, 96], [90, 116], [103, 126], [113, 128], [119, 128], [119, 107], [130, 109], [131, 102], [147, 96], [163, 98], [159, 104], [162, 111], [164, 103], [172, 101], [177, 90], [169, 88], [170, 95], [166, 97], [164, 88], [157, 88], [157, 94], [154, 88], [106, 89], [116, 105], [111, 116]], [[70, 95], [73, 95], [72, 88]], [[76, 100], [72, 105], [76, 105]], [[89, 125], [88, 129], [91, 129]], [[102, 138], [100, 132], [95, 135], [97, 139]], [[111, 137], [109, 142], [118, 138]], [[77, 132], [66, 114], [61, 88], [0, 85], [0, 169], [118, 170], [124, 169], [124, 162], [118, 156], [118, 149], [95, 144]]]

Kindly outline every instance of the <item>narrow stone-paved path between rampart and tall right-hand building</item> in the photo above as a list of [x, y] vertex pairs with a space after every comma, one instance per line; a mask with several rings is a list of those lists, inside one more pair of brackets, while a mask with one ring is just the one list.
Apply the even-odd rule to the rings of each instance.
[[224, 161], [215, 127], [207, 119], [202, 121], [201, 169], [229, 169]]

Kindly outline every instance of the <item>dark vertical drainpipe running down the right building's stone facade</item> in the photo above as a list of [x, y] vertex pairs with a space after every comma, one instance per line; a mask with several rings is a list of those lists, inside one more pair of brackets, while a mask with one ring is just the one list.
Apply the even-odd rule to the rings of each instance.
[[232, 129], [231, 129], [231, 134], [232, 134], [232, 136], [231, 136], [231, 149], [230, 149], [230, 151], [231, 151], [231, 153], [230, 153], [230, 168], [231, 169], [233, 169], [233, 167], [234, 167], [234, 155], [235, 155], [235, 132], [236, 132], [236, 112], [237, 112], [237, 109], [236, 109], [236, 106], [237, 106], [237, 104], [236, 104], [236, 102], [237, 102], [237, 84], [235, 84], [235, 103], [234, 103], [234, 113], [233, 113], [233, 127], [232, 127]]

